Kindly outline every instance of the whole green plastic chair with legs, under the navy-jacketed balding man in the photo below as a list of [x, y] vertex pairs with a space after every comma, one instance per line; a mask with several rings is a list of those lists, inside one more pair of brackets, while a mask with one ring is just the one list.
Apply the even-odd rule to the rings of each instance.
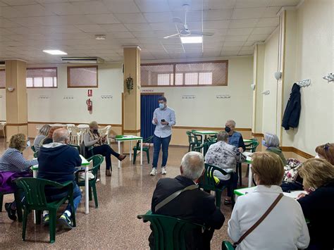
[[[14, 180], [18, 187], [22, 188], [25, 192], [25, 204], [23, 204], [23, 230], [22, 239], [25, 240], [25, 231], [27, 228], [27, 216], [32, 211], [36, 211], [36, 224], [41, 223], [42, 211], [49, 211], [49, 233], [50, 233], [50, 243], [54, 243], [56, 240], [56, 219], [58, 208], [66, 201], [70, 203], [72, 211], [74, 211], [73, 205], [73, 182], [69, 181], [63, 184], [58, 182], [52, 182], [51, 180], [44, 180], [39, 178], [18, 178]], [[60, 199], [58, 201], [47, 202], [47, 197], [45, 196], [45, 186], [56, 187], [56, 189], [63, 189], [67, 187], [68, 196]], [[75, 223], [75, 213], [72, 213], [73, 226]]]

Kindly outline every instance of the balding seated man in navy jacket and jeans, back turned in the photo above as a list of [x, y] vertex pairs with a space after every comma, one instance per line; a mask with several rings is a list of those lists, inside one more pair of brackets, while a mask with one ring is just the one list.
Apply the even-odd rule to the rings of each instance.
[[[58, 223], [64, 228], [71, 229], [73, 224], [70, 217], [72, 213], [75, 213], [81, 201], [81, 192], [75, 182], [75, 176], [73, 175], [75, 167], [81, 165], [81, 158], [77, 149], [72, 146], [68, 146], [68, 143], [70, 142], [68, 130], [63, 128], [55, 130], [52, 139], [54, 142], [44, 144], [39, 149], [38, 177], [59, 183], [73, 181], [74, 211], [71, 210], [70, 204], [68, 204], [66, 210], [58, 219]], [[46, 188], [45, 194], [48, 201], [56, 201], [65, 197], [67, 192], [63, 189], [49, 187], [49, 189]], [[44, 211], [43, 221], [44, 225], [49, 224], [48, 211]]]

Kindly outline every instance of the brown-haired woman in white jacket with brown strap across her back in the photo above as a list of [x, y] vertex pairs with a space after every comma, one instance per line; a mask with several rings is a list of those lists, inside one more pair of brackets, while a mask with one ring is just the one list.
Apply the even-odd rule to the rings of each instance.
[[256, 152], [252, 158], [257, 186], [254, 192], [237, 198], [228, 221], [228, 235], [234, 242], [240, 242], [240, 237], [273, 205], [273, 210], [237, 249], [306, 249], [309, 230], [302, 208], [295, 199], [283, 195], [279, 186], [284, 173], [282, 160], [271, 152]]

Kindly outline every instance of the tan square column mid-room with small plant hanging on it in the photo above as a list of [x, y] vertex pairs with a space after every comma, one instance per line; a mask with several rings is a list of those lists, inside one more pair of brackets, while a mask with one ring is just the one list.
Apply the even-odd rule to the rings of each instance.
[[[129, 46], [123, 49], [124, 92], [122, 111], [123, 135], [140, 135], [140, 47]], [[132, 78], [133, 88], [128, 89], [126, 80]], [[125, 143], [124, 151], [128, 151]]]

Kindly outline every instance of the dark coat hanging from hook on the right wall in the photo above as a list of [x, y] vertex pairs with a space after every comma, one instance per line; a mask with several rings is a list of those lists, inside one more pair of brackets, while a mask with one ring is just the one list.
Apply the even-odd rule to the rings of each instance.
[[289, 101], [284, 111], [282, 127], [289, 130], [290, 127], [298, 127], [299, 116], [301, 110], [300, 104], [300, 86], [295, 83], [292, 86]]

